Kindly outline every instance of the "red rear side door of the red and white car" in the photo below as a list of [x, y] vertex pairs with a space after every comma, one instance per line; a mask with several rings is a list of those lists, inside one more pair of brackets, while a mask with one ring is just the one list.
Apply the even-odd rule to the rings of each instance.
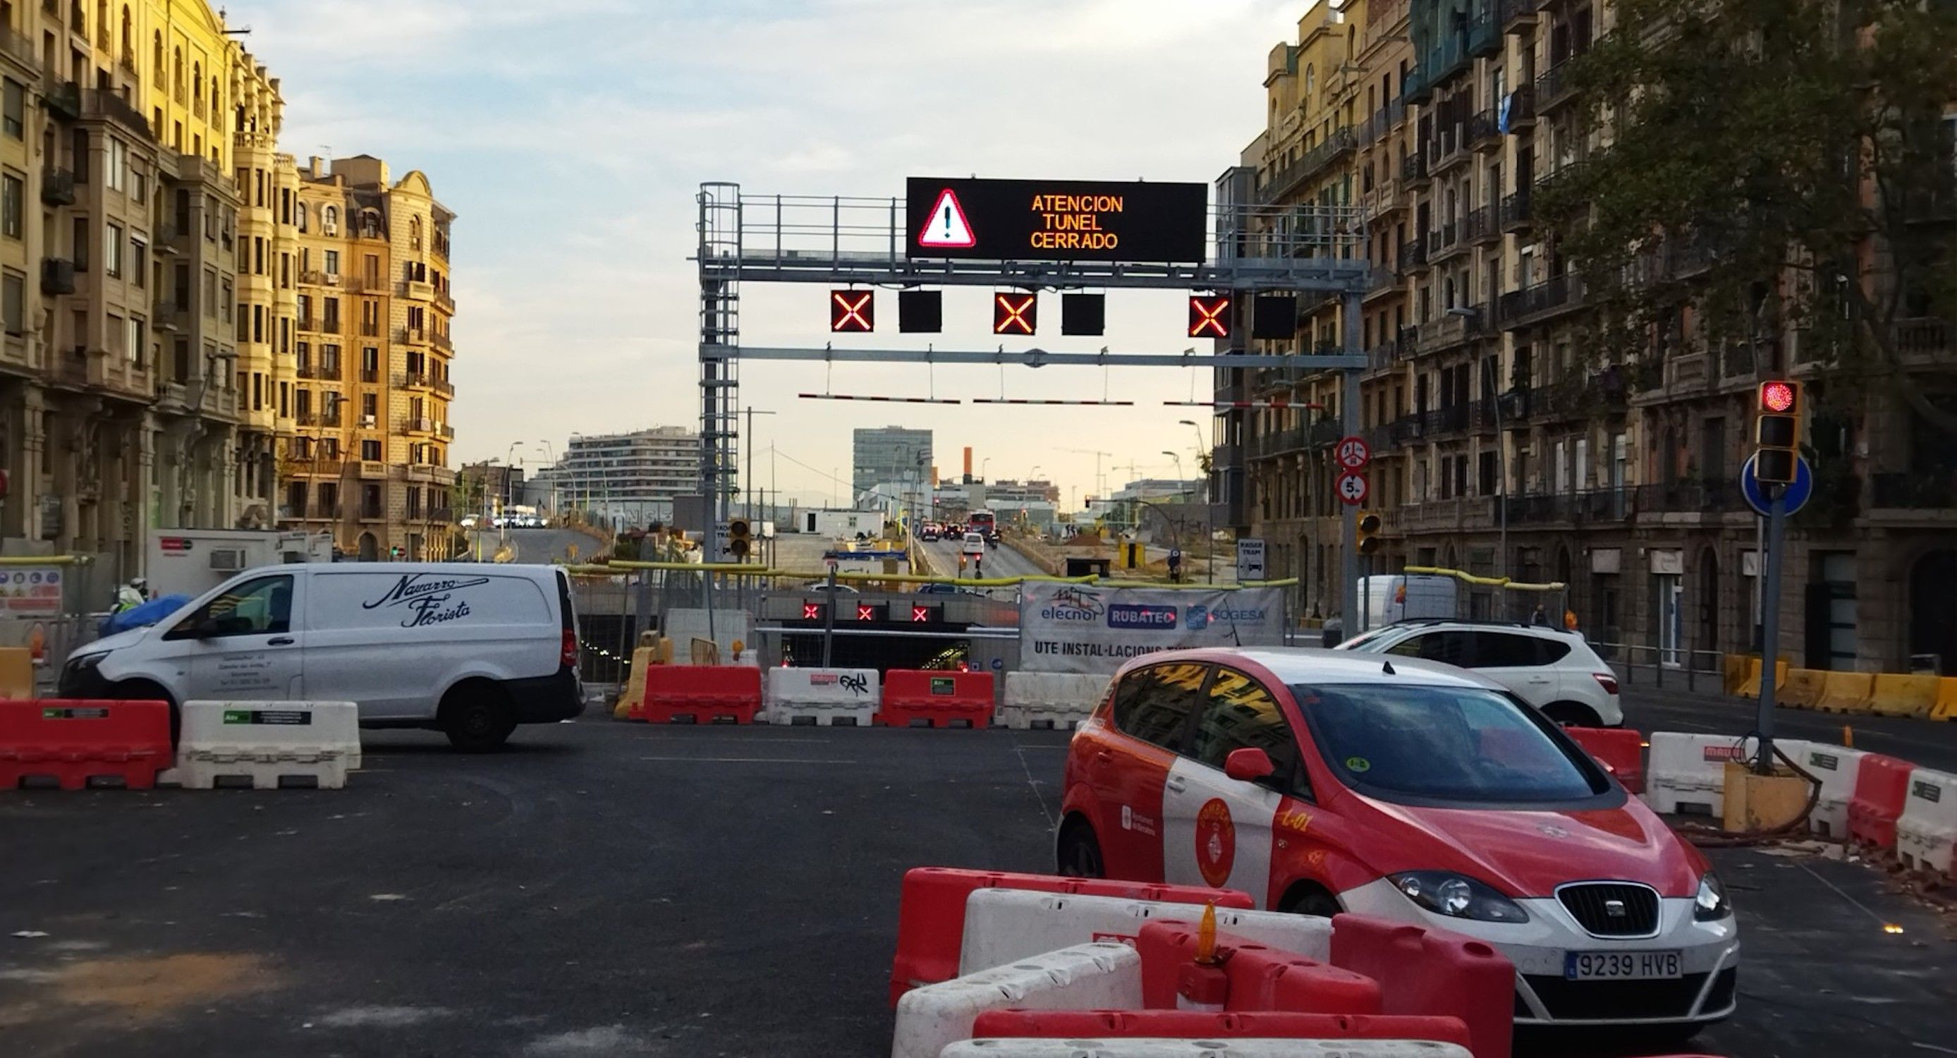
[[1115, 735], [1086, 761], [1096, 835], [1110, 878], [1162, 880], [1162, 792], [1209, 665], [1164, 661], [1133, 669], [1114, 692]]

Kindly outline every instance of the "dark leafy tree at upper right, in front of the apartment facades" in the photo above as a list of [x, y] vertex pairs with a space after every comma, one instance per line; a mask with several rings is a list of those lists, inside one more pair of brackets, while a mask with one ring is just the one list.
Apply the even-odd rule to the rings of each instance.
[[[1552, 252], [1597, 309], [1599, 352], [1648, 368], [1693, 344], [1787, 366], [1798, 334], [1828, 403], [1885, 391], [1957, 434], [1951, 393], [1904, 368], [1916, 346], [1947, 356], [1957, 334], [1943, 115], [1957, 102], [1957, 4], [1615, 10], [1616, 31], [1566, 74], [1585, 100], [1589, 158], [1536, 194]], [[1912, 346], [1922, 327], [1937, 340]]]

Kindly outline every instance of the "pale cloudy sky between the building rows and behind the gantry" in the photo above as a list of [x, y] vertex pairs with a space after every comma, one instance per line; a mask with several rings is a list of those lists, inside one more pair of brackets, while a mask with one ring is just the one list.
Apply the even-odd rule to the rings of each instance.
[[[1309, 0], [258, 0], [233, 29], [282, 78], [280, 147], [429, 174], [454, 227], [450, 463], [548, 463], [573, 432], [697, 428], [695, 194], [902, 196], [906, 176], [1211, 182], [1262, 129], [1272, 45]], [[458, 12], [468, 12], [458, 18]], [[828, 291], [746, 284], [744, 344], [820, 346]], [[885, 331], [910, 346], [894, 297]], [[1108, 334], [1006, 350], [1180, 352], [1184, 299], [1110, 291]], [[838, 344], [843, 344], [838, 336]], [[945, 293], [937, 348], [998, 348], [988, 291]], [[1131, 409], [863, 405], [800, 393], [1086, 397]], [[855, 426], [928, 426], [994, 479], [1072, 503], [1198, 475], [1207, 372], [750, 362], [757, 485], [847, 493]], [[1180, 424], [1190, 419], [1198, 428]], [[513, 448], [515, 446], [515, 448]], [[1112, 456], [1094, 456], [1092, 452]], [[1164, 454], [1164, 452], [1172, 452]], [[746, 462], [746, 458], [744, 458]], [[1096, 477], [1098, 475], [1098, 477]], [[832, 481], [843, 479], [843, 487]]]

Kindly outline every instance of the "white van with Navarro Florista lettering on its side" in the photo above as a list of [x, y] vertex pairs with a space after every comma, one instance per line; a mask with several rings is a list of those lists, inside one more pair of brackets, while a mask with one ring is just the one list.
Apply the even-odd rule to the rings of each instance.
[[583, 712], [571, 587], [550, 565], [305, 563], [239, 573], [155, 628], [76, 649], [63, 698], [337, 700], [362, 727], [487, 751]]

